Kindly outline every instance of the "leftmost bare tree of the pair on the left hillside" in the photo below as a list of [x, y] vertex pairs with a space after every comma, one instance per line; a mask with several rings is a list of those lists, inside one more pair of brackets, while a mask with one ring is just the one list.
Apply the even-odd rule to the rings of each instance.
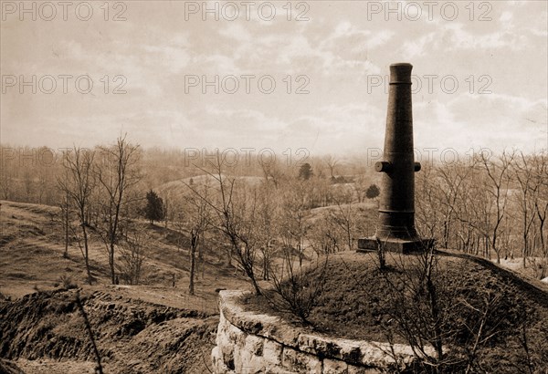
[[[65, 192], [67, 199], [74, 204], [79, 219], [81, 229], [83, 248], [82, 255], [88, 273], [88, 282], [91, 285], [92, 277], [90, 273], [90, 251], [88, 211], [90, 210], [90, 196], [95, 187], [92, 168], [94, 165], [95, 152], [82, 150], [74, 147], [71, 152], [66, 152], [64, 157], [65, 178], [58, 179], [58, 186]], [[68, 214], [68, 206], [67, 206]], [[68, 216], [65, 234], [68, 236]], [[66, 244], [68, 250], [68, 241]]]

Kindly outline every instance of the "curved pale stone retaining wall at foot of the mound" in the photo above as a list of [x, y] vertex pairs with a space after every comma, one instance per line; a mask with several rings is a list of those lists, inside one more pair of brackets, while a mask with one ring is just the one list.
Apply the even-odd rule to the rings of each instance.
[[211, 353], [216, 374], [378, 373], [408, 368], [414, 361], [412, 349], [405, 345], [391, 348], [387, 343], [323, 337], [290, 327], [279, 317], [246, 312], [238, 305], [245, 294], [220, 292], [216, 347]]

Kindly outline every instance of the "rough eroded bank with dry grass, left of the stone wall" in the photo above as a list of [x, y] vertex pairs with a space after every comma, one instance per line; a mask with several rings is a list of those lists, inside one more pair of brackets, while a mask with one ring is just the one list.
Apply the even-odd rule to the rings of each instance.
[[93, 372], [97, 358], [82, 311], [104, 372], [207, 370], [218, 317], [101, 291], [80, 296], [56, 290], [0, 301], [0, 357], [17, 360], [26, 372]]

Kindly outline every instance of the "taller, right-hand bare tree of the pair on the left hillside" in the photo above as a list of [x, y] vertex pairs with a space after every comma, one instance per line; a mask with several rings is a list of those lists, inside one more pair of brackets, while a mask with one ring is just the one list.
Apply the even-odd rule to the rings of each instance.
[[111, 282], [116, 284], [115, 247], [121, 223], [124, 204], [130, 203], [129, 192], [140, 180], [137, 170], [140, 159], [138, 145], [129, 143], [125, 136], [118, 138], [111, 147], [100, 147], [100, 165], [96, 175], [102, 187], [100, 237], [109, 254]]

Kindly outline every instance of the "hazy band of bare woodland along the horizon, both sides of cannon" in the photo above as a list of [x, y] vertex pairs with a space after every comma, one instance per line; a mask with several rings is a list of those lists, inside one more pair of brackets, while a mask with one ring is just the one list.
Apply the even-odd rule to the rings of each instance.
[[[153, 190], [166, 205], [166, 222], [175, 222], [180, 213], [178, 201], [192, 190], [188, 186], [195, 181], [200, 184], [204, 175], [220, 170], [228, 181], [239, 178], [240, 185], [247, 181], [248, 193], [260, 194], [254, 203], [291, 205], [288, 209], [293, 210], [297, 206], [297, 211], [291, 213], [300, 217], [299, 224], [303, 224], [297, 236], [302, 239], [308, 233], [318, 232], [326, 251], [354, 249], [358, 237], [374, 234], [371, 217], [374, 208], [364, 213], [364, 206], [359, 205], [374, 201], [376, 194], [367, 191], [375, 191], [371, 187], [378, 184], [378, 173], [366, 159], [312, 157], [301, 150], [280, 154], [250, 149], [142, 150], [138, 145], [124, 144], [134, 148], [131, 172], [135, 177], [131, 191], [126, 192], [128, 202], [121, 202], [124, 218], [139, 215], [146, 203], [146, 193]], [[59, 188], [69, 169], [66, 161], [77, 151], [93, 154], [90, 178], [95, 181], [93, 186], [97, 186], [103, 166], [110, 165], [109, 172], [115, 173], [111, 160], [117, 154], [112, 152], [115, 149], [116, 144], [93, 150], [55, 151], [47, 147], [2, 146], [0, 197], [66, 205], [66, 188]], [[173, 188], [176, 181], [180, 182], [178, 190]], [[104, 187], [103, 181], [103, 190]], [[90, 219], [94, 214], [96, 218], [99, 216], [100, 209], [93, 208], [93, 202], [99, 201], [104, 192], [90, 192], [91, 207], [87, 212]], [[250, 196], [246, 194], [244, 200], [249, 201]], [[322, 207], [331, 210], [323, 214], [320, 222], [318, 214], [311, 214], [311, 210]], [[277, 218], [273, 212], [271, 217]], [[546, 151], [478, 152], [466, 161], [455, 158], [447, 162], [423, 162], [422, 170], [416, 173], [416, 226], [420, 234], [436, 238], [441, 247], [489, 258], [522, 257], [523, 265], [531, 266], [539, 277], [548, 275], [547, 214]], [[327, 234], [321, 236], [321, 230]], [[301, 239], [299, 245], [313, 242]]]

